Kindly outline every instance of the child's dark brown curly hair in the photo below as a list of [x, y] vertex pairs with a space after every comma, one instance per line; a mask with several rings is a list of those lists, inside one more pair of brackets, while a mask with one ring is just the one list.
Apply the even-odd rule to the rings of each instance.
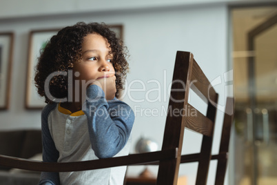
[[[79, 22], [74, 26], [61, 29], [57, 35], [50, 39], [41, 52], [34, 81], [39, 95], [45, 97], [45, 103], [52, 104], [54, 102], [45, 93], [45, 79], [52, 72], [68, 72], [76, 62], [81, 61], [83, 38], [91, 33], [103, 36], [110, 43], [113, 53], [112, 64], [116, 72], [116, 97], [119, 97], [119, 90], [123, 89], [124, 79], [129, 68], [126, 60], [127, 48], [105, 23]], [[65, 75], [52, 77], [49, 82], [49, 90], [52, 97], [59, 99], [68, 97], [68, 77]]]

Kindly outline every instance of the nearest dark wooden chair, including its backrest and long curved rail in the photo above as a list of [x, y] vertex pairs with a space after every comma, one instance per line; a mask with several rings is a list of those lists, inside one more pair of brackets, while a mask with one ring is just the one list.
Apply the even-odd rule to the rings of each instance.
[[[183, 108], [187, 108], [191, 111], [195, 110], [197, 116], [190, 117], [182, 114], [172, 115], [172, 113], [168, 111], [165, 133], [163, 135], [163, 146], [160, 151], [67, 163], [36, 162], [28, 159], [0, 155], [0, 165], [30, 171], [65, 172], [87, 171], [98, 168], [158, 162], [159, 168], [156, 184], [176, 184], [178, 169], [181, 162], [181, 150], [185, 127], [204, 135], [201, 155], [199, 156], [199, 165], [203, 166], [203, 168], [209, 167], [212, 139], [214, 135], [214, 121], [216, 117], [216, 107], [212, 105], [212, 102], [217, 104], [218, 94], [215, 92], [214, 88], [210, 86], [209, 80], [205, 77], [205, 74], [190, 52], [177, 52], [172, 81], [176, 83], [172, 83], [169, 108], [177, 111], [181, 111]], [[183, 81], [185, 84], [185, 90], [183, 84], [179, 83], [180, 81]], [[192, 81], [196, 81], [194, 86], [191, 86]], [[208, 108], [206, 116], [201, 114], [192, 105], [188, 104], [189, 88], [192, 88], [197, 95], [207, 102]], [[205, 180], [201, 182], [204, 184]]]

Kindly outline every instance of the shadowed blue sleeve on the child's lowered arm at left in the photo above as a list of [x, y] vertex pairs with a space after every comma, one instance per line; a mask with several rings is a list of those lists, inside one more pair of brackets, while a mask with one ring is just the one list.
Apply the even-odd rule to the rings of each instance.
[[[59, 158], [59, 151], [54, 145], [54, 141], [50, 135], [48, 127], [48, 115], [57, 104], [48, 104], [41, 114], [41, 134], [42, 134], [42, 146], [43, 146], [43, 162], [57, 162]], [[39, 185], [59, 185], [59, 173], [42, 172]]]

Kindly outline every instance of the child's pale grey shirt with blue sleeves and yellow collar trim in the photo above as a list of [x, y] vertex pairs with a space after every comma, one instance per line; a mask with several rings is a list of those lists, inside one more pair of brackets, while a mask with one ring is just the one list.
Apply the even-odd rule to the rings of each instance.
[[[70, 113], [48, 104], [41, 115], [43, 162], [72, 162], [127, 155], [134, 113], [96, 85], [87, 89], [82, 110]], [[41, 173], [41, 184], [122, 184], [125, 167], [73, 173]]]

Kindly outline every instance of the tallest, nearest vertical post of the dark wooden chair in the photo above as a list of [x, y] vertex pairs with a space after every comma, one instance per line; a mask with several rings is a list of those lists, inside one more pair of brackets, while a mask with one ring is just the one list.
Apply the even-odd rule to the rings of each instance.
[[192, 75], [192, 61], [192, 53], [177, 52], [168, 110], [179, 110], [180, 114], [175, 116], [167, 110], [162, 150], [178, 148], [178, 152], [176, 159], [163, 160], [160, 162], [157, 178], [158, 185], [177, 184], [183, 134], [185, 130], [185, 117], [182, 116], [181, 110], [187, 105], [189, 92], [188, 84], [189, 78]]

